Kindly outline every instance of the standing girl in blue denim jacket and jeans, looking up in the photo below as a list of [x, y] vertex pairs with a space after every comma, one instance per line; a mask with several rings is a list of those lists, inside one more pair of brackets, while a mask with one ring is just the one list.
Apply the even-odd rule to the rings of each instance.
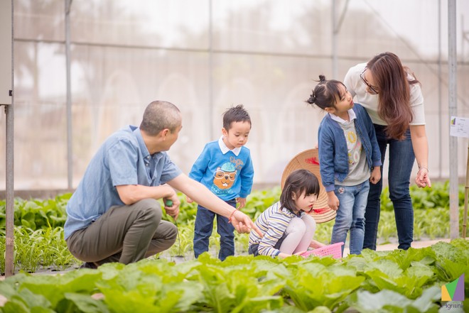
[[337, 211], [331, 243], [345, 243], [350, 231], [350, 253], [360, 254], [370, 182], [381, 179], [381, 153], [372, 121], [342, 82], [326, 80], [324, 75], [319, 75], [307, 102], [327, 112], [318, 142], [320, 177], [329, 207]]

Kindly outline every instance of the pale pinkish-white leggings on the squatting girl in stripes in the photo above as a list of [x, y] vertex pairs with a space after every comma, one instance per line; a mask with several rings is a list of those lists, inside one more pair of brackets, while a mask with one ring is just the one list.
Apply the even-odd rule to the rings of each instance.
[[304, 214], [303, 217], [293, 218], [286, 228], [286, 238], [281, 243], [280, 252], [295, 254], [306, 251], [316, 231], [316, 221], [311, 215]]

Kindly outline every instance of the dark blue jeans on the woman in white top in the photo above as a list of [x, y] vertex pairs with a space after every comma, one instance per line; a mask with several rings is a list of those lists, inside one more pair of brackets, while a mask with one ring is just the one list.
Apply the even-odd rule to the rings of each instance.
[[[394, 206], [397, 237], [399, 238], [398, 248], [407, 250], [414, 240], [414, 208], [412, 207], [409, 185], [415, 155], [412, 148], [410, 130], [406, 131], [406, 138], [403, 141], [387, 138], [384, 126], [374, 124], [374, 130], [376, 131], [383, 164], [386, 148], [389, 145], [389, 199], [391, 199]], [[365, 212], [366, 224], [363, 248], [376, 250], [382, 186], [382, 180], [379, 180], [376, 185], [370, 185], [367, 211]]]

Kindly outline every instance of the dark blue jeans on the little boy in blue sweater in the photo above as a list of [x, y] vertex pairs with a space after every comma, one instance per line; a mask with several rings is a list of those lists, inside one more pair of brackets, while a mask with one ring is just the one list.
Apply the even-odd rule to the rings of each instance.
[[[236, 200], [227, 201], [232, 207], [236, 207]], [[205, 207], [197, 207], [194, 226], [194, 256], [208, 251], [210, 236], [212, 236], [213, 219], [217, 216], [217, 232], [220, 235], [220, 252], [218, 258], [225, 260], [228, 256], [234, 256], [234, 226], [228, 222], [225, 216], [212, 212]]]

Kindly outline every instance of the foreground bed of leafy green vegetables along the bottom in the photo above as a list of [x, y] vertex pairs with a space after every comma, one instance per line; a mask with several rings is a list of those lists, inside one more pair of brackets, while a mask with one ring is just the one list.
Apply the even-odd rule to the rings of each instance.
[[[0, 281], [1, 312], [438, 312], [441, 285], [469, 275], [469, 241], [330, 257], [204, 253], [175, 264], [108, 263]], [[467, 285], [467, 280], [465, 282]], [[466, 287], [467, 292], [467, 287]]]

